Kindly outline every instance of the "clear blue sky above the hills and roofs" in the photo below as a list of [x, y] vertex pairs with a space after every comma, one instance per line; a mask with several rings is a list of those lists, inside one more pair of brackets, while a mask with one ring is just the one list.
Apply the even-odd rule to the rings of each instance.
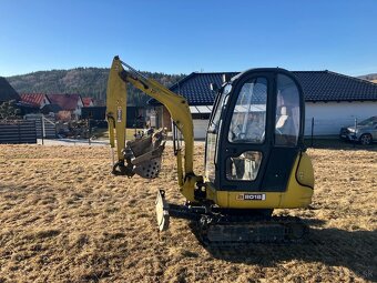
[[0, 75], [75, 67], [377, 72], [375, 0], [1, 0]]

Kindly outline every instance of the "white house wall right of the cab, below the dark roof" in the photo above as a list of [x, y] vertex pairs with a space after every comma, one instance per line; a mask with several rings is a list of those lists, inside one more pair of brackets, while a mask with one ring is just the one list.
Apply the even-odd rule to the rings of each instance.
[[353, 125], [377, 115], [377, 102], [306, 102], [305, 135], [310, 135], [314, 118], [314, 135], [338, 134], [342, 127]]

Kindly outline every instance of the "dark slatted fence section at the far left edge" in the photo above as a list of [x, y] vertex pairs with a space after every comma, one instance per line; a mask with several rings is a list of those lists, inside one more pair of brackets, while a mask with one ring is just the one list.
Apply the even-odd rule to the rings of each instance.
[[0, 143], [37, 143], [34, 121], [0, 121]]

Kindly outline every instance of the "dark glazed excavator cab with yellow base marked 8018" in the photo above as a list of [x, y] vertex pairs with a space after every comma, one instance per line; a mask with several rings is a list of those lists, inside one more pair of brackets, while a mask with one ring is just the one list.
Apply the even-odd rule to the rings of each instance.
[[[303, 158], [304, 108], [299, 83], [283, 69], [253, 69], [223, 84], [205, 150], [205, 180], [216, 204], [274, 209], [310, 202], [313, 169], [302, 164], [300, 175], [295, 170], [307, 159]], [[283, 194], [294, 183], [299, 186], [303, 174], [306, 200], [285, 203]]]

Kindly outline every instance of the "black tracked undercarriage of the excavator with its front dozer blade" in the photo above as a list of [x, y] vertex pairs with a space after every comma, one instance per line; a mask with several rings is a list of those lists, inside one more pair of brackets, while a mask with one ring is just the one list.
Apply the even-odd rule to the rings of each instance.
[[205, 205], [177, 205], [160, 190], [155, 201], [160, 231], [170, 218], [192, 222], [197, 239], [207, 246], [238, 246], [252, 243], [295, 243], [305, 241], [308, 226], [298, 218], [272, 216], [272, 210], [224, 210]]

